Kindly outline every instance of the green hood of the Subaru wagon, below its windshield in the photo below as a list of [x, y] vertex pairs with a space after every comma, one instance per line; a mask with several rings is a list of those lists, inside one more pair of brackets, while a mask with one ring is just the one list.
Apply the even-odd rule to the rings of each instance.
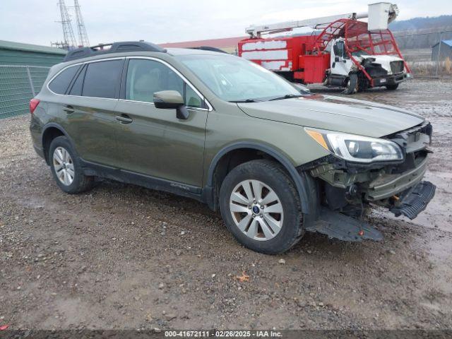
[[376, 138], [424, 121], [405, 109], [331, 95], [314, 94], [238, 105], [251, 117]]

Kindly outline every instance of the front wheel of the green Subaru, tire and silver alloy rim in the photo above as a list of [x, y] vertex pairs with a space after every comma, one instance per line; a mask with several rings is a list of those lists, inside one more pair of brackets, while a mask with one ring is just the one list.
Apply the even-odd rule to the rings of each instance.
[[227, 174], [220, 211], [241, 244], [264, 254], [287, 251], [304, 234], [295, 185], [283, 167], [270, 160], [245, 162]]

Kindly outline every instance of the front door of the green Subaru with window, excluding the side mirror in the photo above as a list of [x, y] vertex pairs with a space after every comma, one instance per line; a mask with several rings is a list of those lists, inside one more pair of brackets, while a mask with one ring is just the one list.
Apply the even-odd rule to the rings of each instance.
[[[208, 109], [171, 66], [157, 59], [129, 59], [124, 90], [116, 107], [121, 169], [192, 186], [201, 186]], [[190, 112], [157, 109], [153, 94], [177, 90]]]

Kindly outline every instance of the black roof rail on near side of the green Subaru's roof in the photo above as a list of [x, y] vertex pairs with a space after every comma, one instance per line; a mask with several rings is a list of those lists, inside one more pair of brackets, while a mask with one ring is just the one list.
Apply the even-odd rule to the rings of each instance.
[[94, 57], [95, 55], [117, 53], [117, 52], [167, 52], [157, 44], [144, 41], [125, 41], [113, 42], [112, 44], [98, 44], [97, 46], [81, 47], [73, 49], [66, 54], [63, 61], [71, 61], [86, 57]]

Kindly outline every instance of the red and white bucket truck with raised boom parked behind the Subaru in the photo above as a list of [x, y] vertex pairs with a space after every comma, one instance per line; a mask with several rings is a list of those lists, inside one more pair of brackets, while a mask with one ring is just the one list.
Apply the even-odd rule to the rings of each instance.
[[[381, 86], [395, 90], [411, 77], [410, 67], [388, 30], [388, 23], [397, 15], [395, 4], [378, 3], [369, 5], [367, 13], [253, 25], [246, 28], [249, 39], [239, 42], [239, 56], [295, 83], [343, 87], [347, 94]], [[360, 18], [368, 18], [368, 22]], [[262, 37], [300, 27], [317, 31]]]

